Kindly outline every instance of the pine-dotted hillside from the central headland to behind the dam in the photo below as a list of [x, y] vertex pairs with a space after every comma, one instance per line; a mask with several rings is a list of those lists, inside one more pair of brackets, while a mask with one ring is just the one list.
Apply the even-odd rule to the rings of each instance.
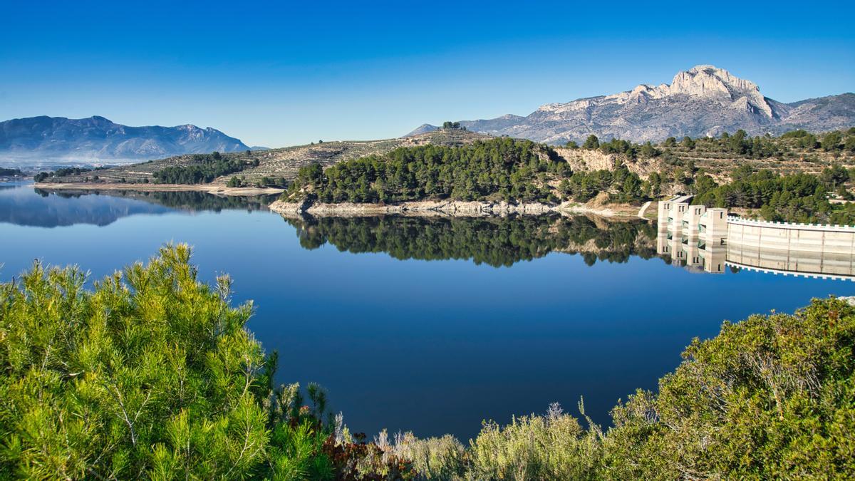
[[[571, 157], [577, 151], [587, 152], [582, 155], [598, 160], [598, 165], [569, 162], [567, 158], [578, 158]], [[727, 172], [695, 163], [695, 158], [708, 161], [714, 153], [743, 160], [731, 162]], [[625, 140], [601, 143], [592, 135], [581, 146], [569, 144], [557, 151], [528, 140], [503, 138], [459, 147], [400, 148], [326, 170], [311, 164], [298, 171], [281, 199], [333, 204], [452, 199], [554, 205], [605, 195], [610, 202], [640, 204], [673, 193], [693, 193], [698, 204], [744, 209], [748, 215], [755, 211], [753, 215], [769, 220], [850, 224], [855, 223], [855, 207], [848, 202], [855, 199], [853, 153], [855, 129], [819, 138], [805, 131], [780, 138], [750, 138], [740, 131], [718, 139], [668, 139], [660, 145]], [[820, 163], [808, 155], [831, 160]], [[816, 173], [775, 169], [775, 163], [792, 163], [786, 159], [794, 156], [801, 156], [799, 162], [811, 165]], [[851, 166], [847, 169], [835, 159]], [[642, 164], [646, 169], [640, 169]]]

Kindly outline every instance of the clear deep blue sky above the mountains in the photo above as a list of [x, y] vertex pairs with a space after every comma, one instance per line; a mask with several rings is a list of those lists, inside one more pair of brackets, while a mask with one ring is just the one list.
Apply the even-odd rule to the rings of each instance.
[[282, 146], [526, 115], [699, 63], [782, 102], [855, 91], [852, 2], [307, 3], [7, 2], [0, 120], [193, 123]]

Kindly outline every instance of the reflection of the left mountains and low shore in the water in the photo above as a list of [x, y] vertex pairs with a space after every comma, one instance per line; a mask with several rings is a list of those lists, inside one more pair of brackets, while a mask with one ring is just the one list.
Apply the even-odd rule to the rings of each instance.
[[135, 214], [164, 214], [177, 209], [258, 210], [265, 205], [260, 199], [226, 199], [198, 192], [45, 191], [19, 184], [0, 188], [0, 223], [49, 228], [79, 223], [104, 226]]

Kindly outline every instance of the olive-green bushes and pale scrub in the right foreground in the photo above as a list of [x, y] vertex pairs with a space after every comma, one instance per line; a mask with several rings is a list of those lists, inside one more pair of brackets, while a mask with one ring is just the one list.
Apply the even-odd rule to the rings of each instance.
[[842, 300], [725, 323], [687, 347], [657, 395], [619, 402], [609, 431], [583, 429], [553, 406], [504, 427], [486, 423], [462, 462], [422, 441], [419, 457], [459, 466], [424, 477], [855, 478], [853, 349], [855, 308]]

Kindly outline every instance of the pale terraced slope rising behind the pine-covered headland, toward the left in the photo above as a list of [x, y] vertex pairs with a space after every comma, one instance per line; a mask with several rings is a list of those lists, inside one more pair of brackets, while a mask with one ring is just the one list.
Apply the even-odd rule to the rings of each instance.
[[[310, 145], [296, 145], [268, 151], [244, 151], [235, 153], [223, 153], [224, 161], [238, 161], [245, 164], [245, 168], [239, 172], [221, 175], [215, 179], [213, 184], [226, 185], [233, 176], [245, 179], [245, 183], [255, 185], [263, 178], [284, 178], [291, 181], [298, 169], [310, 163], [321, 163], [324, 167], [351, 158], [364, 157], [371, 154], [381, 154], [392, 151], [398, 147], [409, 147], [414, 145], [463, 145], [478, 139], [488, 139], [485, 134], [475, 134], [458, 129], [440, 129], [426, 134], [415, 135], [400, 139], [388, 140], [366, 140], [366, 141], [333, 141], [321, 142]], [[257, 161], [257, 162], [256, 162]], [[84, 172], [79, 175], [64, 175], [44, 179], [45, 182], [76, 183], [155, 183], [155, 172], [168, 167], [190, 167], [193, 165], [204, 165], [205, 159], [198, 155], [181, 155], [175, 157], [152, 160], [144, 163], [133, 163], [114, 167], [111, 169], [98, 169]]]

